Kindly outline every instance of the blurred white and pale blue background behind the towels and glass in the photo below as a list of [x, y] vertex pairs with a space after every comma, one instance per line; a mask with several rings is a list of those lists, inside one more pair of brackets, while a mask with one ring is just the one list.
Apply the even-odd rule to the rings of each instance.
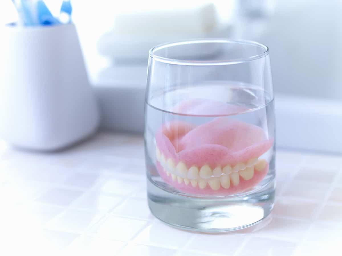
[[[61, 1], [45, 1], [57, 15]], [[77, 25], [90, 76], [108, 66], [96, 42], [113, 27], [117, 13], [191, 8], [208, 1], [74, 0]], [[213, 2], [219, 22], [233, 25], [227, 37], [251, 39], [271, 49], [276, 93], [342, 99], [342, 2], [339, 0], [228, 0]], [[11, 1], [1, 1], [0, 22], [16, 20]], [[138, 21], [137, 21], [138, 22]], [[147, 53], [146, 53], [147, 55]]]

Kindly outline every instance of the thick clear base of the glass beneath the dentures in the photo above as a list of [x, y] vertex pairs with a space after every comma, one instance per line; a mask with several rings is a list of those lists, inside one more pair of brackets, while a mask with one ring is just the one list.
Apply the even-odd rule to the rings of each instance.
[[149, 179], [147, 191], [149, 208], [162, 222], [189, 231], [227, 232], [257, 224], [271, 213], [275, 182], [247, 195], [210, 199], [172, 194]]

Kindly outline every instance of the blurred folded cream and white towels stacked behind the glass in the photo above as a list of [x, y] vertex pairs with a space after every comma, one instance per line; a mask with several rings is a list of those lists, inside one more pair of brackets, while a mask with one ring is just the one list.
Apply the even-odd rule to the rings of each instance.
[[191, 38], [218, 36], [215, 5], [159, 11], [118, 13], [114, 27], [97, 43], [98, 52], [115, 60], [147, 59], [155, 45]]

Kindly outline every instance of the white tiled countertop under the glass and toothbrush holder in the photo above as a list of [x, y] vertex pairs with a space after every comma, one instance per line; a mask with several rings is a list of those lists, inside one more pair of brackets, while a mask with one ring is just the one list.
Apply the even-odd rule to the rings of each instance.
[[101, 132], [53, 154], [1, 142], [0, 255], [341, 255], [342, 157], [278, 150], [276, 163], [271, 216], [203, 234], [150, 214], [140, 136]]

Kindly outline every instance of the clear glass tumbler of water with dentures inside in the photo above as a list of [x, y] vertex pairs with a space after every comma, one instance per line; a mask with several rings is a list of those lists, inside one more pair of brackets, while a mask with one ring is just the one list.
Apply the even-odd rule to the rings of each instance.
[[152, 48], [145, 157], [148, 204], [161, 221], [223, 232], [265, 218], [275, 193], [268, 48], [221, 39]]

